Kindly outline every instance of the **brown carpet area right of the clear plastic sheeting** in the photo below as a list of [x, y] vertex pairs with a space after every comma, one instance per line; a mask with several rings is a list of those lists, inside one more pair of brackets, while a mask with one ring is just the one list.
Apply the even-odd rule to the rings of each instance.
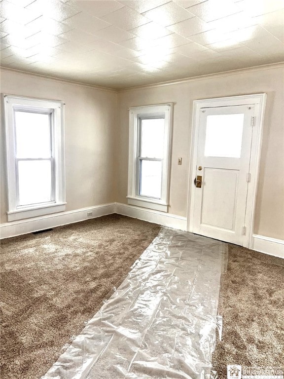
[[213, 354], [217, 378], [227, 365], [284, 367], [284, 260], [229, 245], [219, 311], [222, 341]]

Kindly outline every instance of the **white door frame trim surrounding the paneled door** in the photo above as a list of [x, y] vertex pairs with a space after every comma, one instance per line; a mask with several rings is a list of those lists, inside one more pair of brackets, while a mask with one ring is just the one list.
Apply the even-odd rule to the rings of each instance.
[[262, 143], [262, 131], [264, 120], [264, 109], [266, 103], [266, 94], [252, 94], [243, 96], [218, 97], [213, 99], [194, 100], [193, 117], [191, 131], [191, 150], [190, 150], [190, 170], [188, 184], [188, 208], [187, 208], [187, 230], [193, 230], [193, 210], [195, 186], [194, 178], [196, 175], [197, 149], [199, 134], [199, 115], [201, 108], [226, 107], [235, 105], [254, 105], [255, 118], [252, 129], [251, 155], [250, 155], [250, 182], [247, 197], [247, 211], [245, 217], [246, 235], [244, 236], [244, 247], [252, 246], [252, 234], [255, 215], [255, 201], [257, 192], [257, 183], [259, 175], [260, 152]]

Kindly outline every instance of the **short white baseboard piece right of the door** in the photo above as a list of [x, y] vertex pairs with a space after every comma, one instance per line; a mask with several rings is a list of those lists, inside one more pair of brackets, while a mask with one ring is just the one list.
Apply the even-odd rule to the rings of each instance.
[[253, 234], [250, 249], [284, 258], [284, 240]]

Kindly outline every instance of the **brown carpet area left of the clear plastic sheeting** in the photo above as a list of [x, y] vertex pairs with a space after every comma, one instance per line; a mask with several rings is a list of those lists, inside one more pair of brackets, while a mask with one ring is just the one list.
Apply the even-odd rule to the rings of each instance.
[[1, 379], [37, 379], [160, 227], [111, 215], [1, 241]]

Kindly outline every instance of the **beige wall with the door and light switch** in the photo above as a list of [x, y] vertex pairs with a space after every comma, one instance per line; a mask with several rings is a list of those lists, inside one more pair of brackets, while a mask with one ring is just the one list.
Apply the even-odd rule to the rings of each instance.
[[[173, 102], [174, 129], [169, 212], [186, 216], [193, 100], [267, 94], [254, 233], [284, 238], [284, 70], [263, 67], [118, 94], [117, 201], [126, 203], [129, 107]], [[178, 166], [178, 157], [182, 165]]]

